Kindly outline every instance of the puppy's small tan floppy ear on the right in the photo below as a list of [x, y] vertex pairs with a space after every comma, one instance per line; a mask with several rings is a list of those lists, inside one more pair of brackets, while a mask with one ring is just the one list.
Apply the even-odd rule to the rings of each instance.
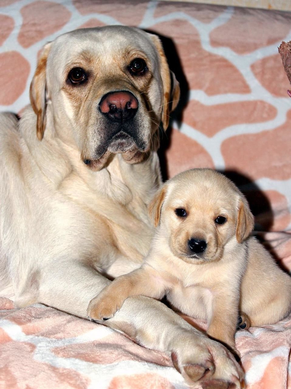
[[238, 201], [237, 229], [235, 235], [238, 243], [242, 243], [254, 228], [254, 216], [245, 198]]

